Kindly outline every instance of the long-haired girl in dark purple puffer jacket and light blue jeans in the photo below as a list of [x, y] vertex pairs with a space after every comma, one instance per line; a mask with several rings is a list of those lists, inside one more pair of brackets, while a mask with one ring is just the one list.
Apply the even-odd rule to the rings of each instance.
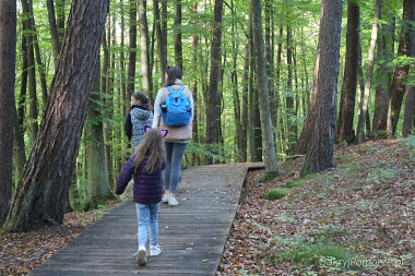
[[134, 176], [133, 201], [139, 224], [137, 262], [146, 264], [146, 240], [150, 228], [150, 255], [158, 255], [158, 207], [162, 202], [162, 170], [166, 167], [166, 148], [159, 130], [151, 129], [143, 137], [118, 180], [116, 194], [122, 194], [131, 177]]

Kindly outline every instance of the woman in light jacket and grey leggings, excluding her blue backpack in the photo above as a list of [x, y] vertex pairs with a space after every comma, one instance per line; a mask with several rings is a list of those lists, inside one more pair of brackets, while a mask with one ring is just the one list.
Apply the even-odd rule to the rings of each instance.
[[[176, 200], [177, 184], [180, 179], [180, 168], [181, 160], [189, 141], [192, 139], [192, 120], [193, 112], [190, 116], [190, 122], [186, 125], [180, 127], [167, 127], [163, 123], [162, 107], [161, 104], [165, 103], [167, 95], [170, 93], [167, 88], [171, 87], [174, 92], [178, 92], [183, 82], [181, 81], [181, 71], [175, 67], [168, 67], [166, 69], [166, 83], [164, 87], [157, 93], [154, 103], [154, 118], [153, 118], [153, 129], [167, 130], [167, 135], [165, 137], [166, 145], [166, 168], [163, 171], [163, 181], [165, 183], [165, 192], [163, 194], [163, 202], [168, 203], [169, 206], [177, 206], [179, 203]], [[182, 89], [182, 94], [189, 100], [190, 110], [194, 109], [193, 97], [188, 88]]]

